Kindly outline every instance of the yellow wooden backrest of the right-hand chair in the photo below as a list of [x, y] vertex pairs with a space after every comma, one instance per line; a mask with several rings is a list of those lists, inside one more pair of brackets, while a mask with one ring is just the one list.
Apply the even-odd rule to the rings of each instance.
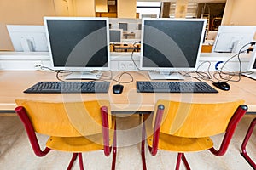
[[[216, 104], [159, 100], [154, 113], [157, 112], [158, 105], [164, 105], [160, 125], [161, 133], [200, 138], [224, 133], [236, 109], [243, 103], [243, 100]], [[154, 114], [153, 120], [155, 117], [156, 114]]]

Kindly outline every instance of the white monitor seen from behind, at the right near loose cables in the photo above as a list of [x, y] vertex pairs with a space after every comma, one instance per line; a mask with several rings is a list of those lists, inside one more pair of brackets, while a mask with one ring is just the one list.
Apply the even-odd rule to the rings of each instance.
[[256, 26], [219, 26], [212, 52], [238, 53], [242, 46], [253, 41], [255, 32]]

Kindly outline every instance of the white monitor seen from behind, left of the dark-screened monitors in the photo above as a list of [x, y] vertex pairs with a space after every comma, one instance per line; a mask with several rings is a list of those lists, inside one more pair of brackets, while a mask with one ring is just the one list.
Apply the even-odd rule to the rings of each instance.
[[7, 25], [16, 52], [47, 52], [44, 26]]

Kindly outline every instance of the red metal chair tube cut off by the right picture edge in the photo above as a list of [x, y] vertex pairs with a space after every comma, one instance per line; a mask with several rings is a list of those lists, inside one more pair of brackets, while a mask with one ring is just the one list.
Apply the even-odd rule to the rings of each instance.
[[247, 155], [246, 146], [247, 146], [248, 140], [250, 139], [253, 133], [253, 128], [255, 127], [255, 125], [256, 125], [256, 118], [254, 118], [253, 122], [251, 122], [250, 127], [248, 128], [248, 131], [247, 131], [247, 135], [245, 136], [245, 139], [241, 144], [241, 156], [243, 156], [248, 161], [248, 163], [253, 167], [253, 169], [256, 169], [256, 164], [250, 158], [250, 156]]

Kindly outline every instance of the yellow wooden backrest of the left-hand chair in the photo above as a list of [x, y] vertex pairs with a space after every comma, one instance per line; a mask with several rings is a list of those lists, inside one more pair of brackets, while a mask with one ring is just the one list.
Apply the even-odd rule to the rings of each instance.
[[112, 125], [107, 100], [84, 102], [44, 102], [16, 99], [26, 110], [34, 131], [49, 136], [77, 137], [102, 133], [101, 108], [108, 108], [108, 127]]

